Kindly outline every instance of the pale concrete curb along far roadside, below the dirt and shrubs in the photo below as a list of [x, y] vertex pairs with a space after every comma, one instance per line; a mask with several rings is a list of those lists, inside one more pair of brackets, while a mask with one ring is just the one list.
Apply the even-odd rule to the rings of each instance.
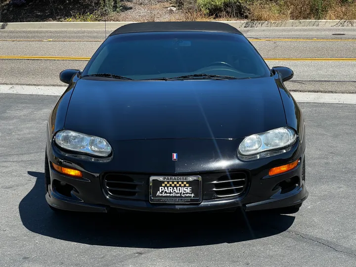
[[[258, 27], [356, 27], [356, 20], [286, 20], [286, 21], [221, 21], [235, 28]], [[106, 28], [117, 29], [134, 22], [106, 22]], [[9, 22], [1, 23], [0, 29], [102, 29], [104, 22]]]

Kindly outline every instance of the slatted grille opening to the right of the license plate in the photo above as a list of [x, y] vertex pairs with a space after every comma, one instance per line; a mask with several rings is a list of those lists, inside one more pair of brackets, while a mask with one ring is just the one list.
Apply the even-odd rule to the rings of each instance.
[[235, 197], [245, 192], [247, 180], [246, 173], [226, 174], [213, 182], [213, 190], [218, 197]]

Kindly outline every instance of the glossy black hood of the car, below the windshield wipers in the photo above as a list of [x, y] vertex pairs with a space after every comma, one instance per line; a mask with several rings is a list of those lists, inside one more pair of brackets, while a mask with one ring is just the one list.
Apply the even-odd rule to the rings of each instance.
[[107, 140], [242, 138], [286, 126], [273, 77], [77, 82], [65, 129]]

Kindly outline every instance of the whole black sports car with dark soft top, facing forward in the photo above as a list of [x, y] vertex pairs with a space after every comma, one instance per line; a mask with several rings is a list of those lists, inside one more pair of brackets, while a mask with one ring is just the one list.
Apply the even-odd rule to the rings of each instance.
[[305, 123], [283, 82], [234, 27], [132, 23], [115, 30], [51, 112], [54, 210], [299, 208]]

